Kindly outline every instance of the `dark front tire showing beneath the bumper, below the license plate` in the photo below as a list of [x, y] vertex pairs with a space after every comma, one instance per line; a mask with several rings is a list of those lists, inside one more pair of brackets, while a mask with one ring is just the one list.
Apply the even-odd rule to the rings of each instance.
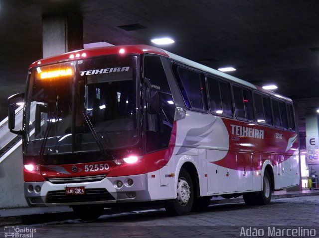
[[98, 219], [104, 211], [102, 206], [81, 205], [72, 207], [75, 215], [83, 221], [92, 221]]

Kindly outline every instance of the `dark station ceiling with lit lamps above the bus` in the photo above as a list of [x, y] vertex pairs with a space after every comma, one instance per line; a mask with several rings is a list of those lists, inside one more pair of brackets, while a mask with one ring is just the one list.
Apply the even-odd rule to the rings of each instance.
[[[0, 0], [0, 120], [6, 99], [42, 58], [42, 14], [83, 16], [84, 43], [147, 44], [169, 36], [167, 51], [237, 78], [275, 83], [305, 114], [319, 108], [318, 0]], [[140, 24], [141, 29], [119, 26]]]

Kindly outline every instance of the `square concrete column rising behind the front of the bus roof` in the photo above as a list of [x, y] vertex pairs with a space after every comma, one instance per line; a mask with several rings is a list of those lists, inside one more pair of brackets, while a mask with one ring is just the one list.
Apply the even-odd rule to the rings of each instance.
[[83, 18], [72, 13], [42, 16], [43, 58], [83, 49]]

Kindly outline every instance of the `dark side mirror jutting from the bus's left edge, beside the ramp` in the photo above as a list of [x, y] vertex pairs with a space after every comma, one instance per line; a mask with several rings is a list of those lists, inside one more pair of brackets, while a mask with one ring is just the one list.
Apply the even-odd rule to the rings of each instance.
[[23, 103], [24, 93], [17, 93], [8, 98], [8, 128], [10, 132], [22, 135], [22, 130], [14, 131], [15, 128], [15, 109], [17, 103]]

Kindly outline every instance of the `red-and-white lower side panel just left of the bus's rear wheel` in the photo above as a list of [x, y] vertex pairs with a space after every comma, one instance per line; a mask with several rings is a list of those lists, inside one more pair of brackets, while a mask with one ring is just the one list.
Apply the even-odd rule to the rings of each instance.
[[237, 153], [238, 191], [253, 190], [252, 153]]

